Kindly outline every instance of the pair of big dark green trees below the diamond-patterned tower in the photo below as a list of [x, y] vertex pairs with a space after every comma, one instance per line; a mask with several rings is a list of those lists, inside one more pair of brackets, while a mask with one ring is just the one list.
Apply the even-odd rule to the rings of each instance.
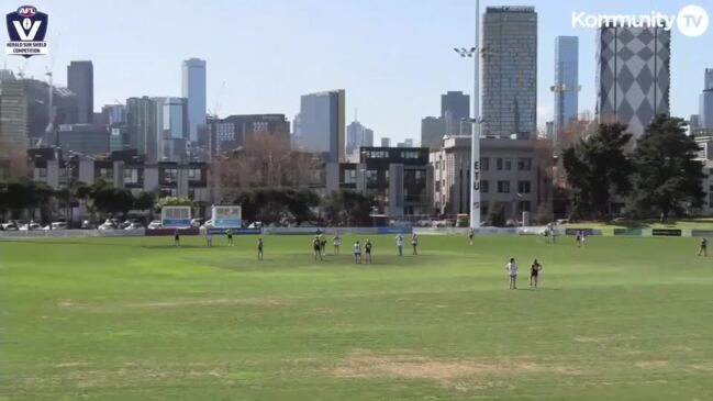
[[632, 218], [683, 215], [699, 208], [703, 165], [699, 146], [679, 118], [657, 115], [632, 149], [632, 134], [619, 123], [599, 124], [597, 132], [562, 152], [572, 202], [572, 219], [612, 216], [616, 199], [626, 200]]

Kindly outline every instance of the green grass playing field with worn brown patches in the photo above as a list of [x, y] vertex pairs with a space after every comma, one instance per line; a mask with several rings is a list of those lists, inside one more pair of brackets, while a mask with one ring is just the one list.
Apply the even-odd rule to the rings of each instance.
[[695, 238], [182, 240], [0, 241], [0, 400], [713, 399]]

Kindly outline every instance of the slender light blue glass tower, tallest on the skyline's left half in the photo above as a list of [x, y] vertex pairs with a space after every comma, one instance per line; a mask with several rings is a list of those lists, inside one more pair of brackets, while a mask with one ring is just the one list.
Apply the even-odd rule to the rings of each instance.
[[188, 99], [188, 126], [190, 142], [198, 142], [198, 133], [205, 125], [205, 60], [183, 60], [182, 93]]

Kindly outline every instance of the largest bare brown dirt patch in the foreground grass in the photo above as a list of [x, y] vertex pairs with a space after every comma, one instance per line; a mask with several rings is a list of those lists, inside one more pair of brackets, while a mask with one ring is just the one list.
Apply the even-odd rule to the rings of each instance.
[[554, 372], [573, 375], [573, 369], [530, 360], [434, 359], [414, 355], [376, 355], [355, 352], [331, 370], [338, 378], [394, 377], [433, 380], [458, 390], [497, 387], [513, 374]]

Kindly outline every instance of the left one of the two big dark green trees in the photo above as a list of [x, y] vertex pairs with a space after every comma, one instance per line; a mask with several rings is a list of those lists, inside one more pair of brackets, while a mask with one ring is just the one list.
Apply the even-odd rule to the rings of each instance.
[[628, 192], [633, 166], [624, 148], [632, 134], [625, 131], [620, 123], [599, 124], [597, 133], [562, 152], [575, 218], [610, 215], [612, 198]]

